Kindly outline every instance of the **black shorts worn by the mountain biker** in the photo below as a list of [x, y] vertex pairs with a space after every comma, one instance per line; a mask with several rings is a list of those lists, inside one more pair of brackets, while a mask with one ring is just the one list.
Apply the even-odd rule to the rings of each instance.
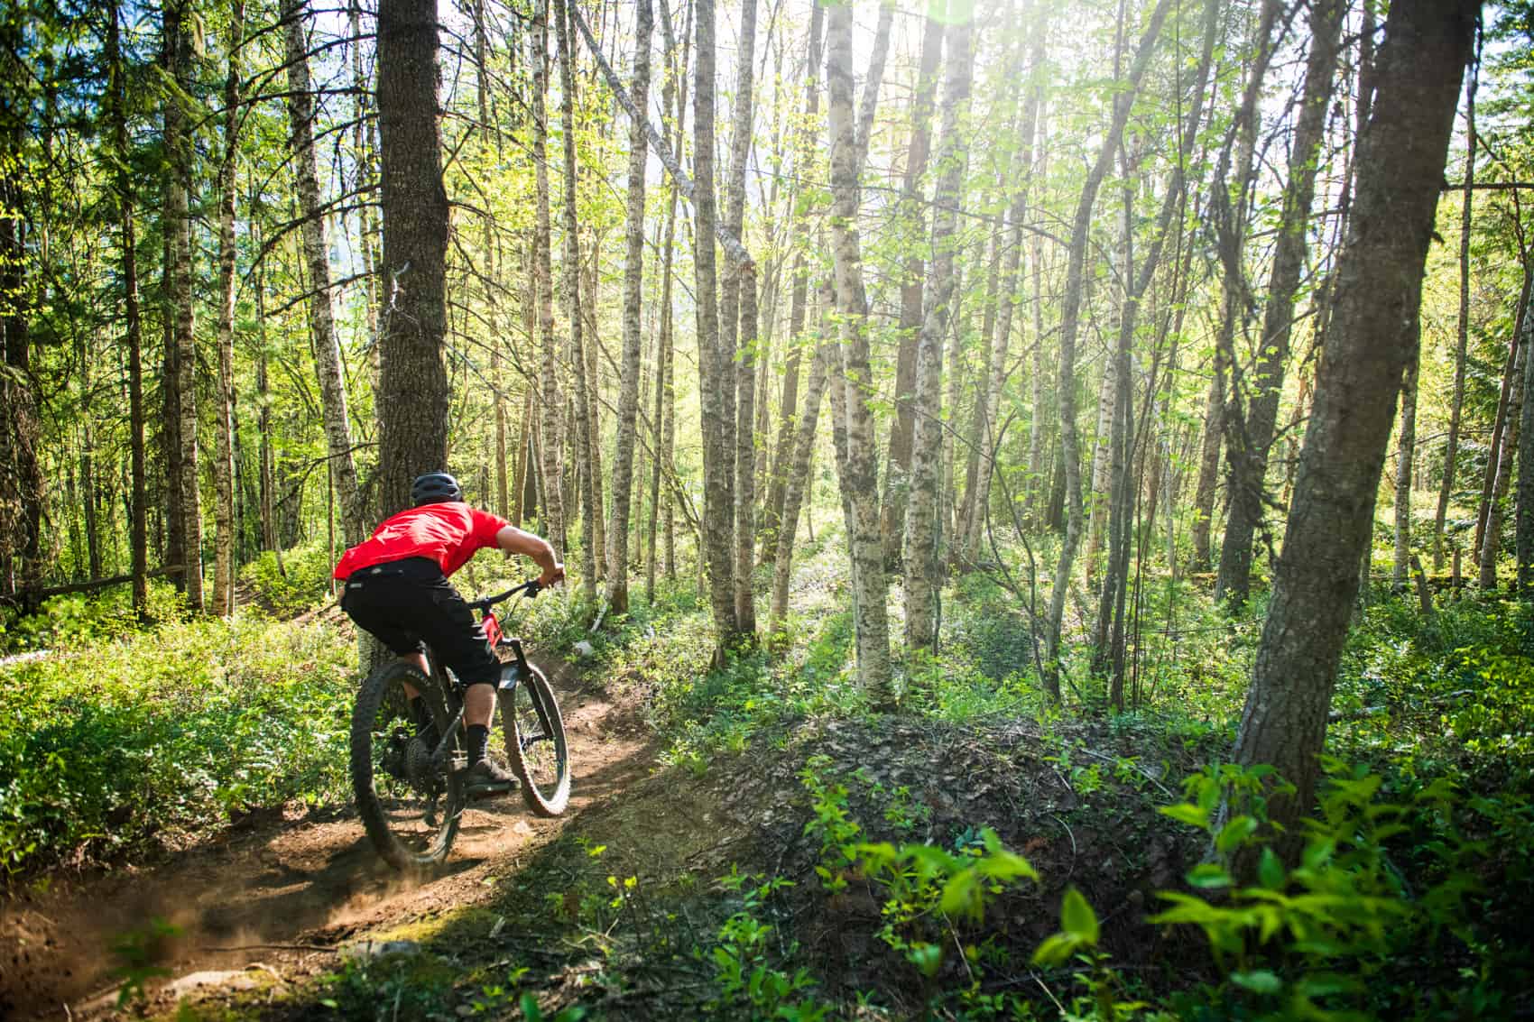
[[408, 557], [359, 568], [347, 579], [341, 609], [400, 657], [425, 645], [463, 684], [500, 681], [500, 660], [485, 626], [434, 560]]

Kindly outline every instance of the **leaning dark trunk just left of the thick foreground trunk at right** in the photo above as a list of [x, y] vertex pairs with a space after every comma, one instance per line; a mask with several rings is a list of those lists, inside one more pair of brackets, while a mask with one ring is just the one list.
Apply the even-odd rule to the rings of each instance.
[[1321, 141], [1332, 107], [1338, 43], [1347, 6], [1345, 0], [1313, 0], [1310, 5], [1310, 55], [1305, 60], [1305, 86], [1299, 121], [1295, 126], [1295, 143], [1289, 155], [1282, 221], [1267, 284], [1262, 342], [1258, 348], [1256, 379], [1252, 384], [1255, 393], [1246, 417], [1246, 436], [1239, 437], [1239, 450], [1230, 453], [1235, 488], [1230, 493], [1230, 517], [1220, 549], [1216, 591], [1223, 592], [1232, 606], [1246, 603], [1252, 589], [1252, 537], [1262, 523], [1264, 476], [1269, 450], [1273, 445], [1273, 427], [1278, 422], [1278, 399], [1284, 390], [1295, 295], [1305, 265], [1310, 206], [1316, 193]]

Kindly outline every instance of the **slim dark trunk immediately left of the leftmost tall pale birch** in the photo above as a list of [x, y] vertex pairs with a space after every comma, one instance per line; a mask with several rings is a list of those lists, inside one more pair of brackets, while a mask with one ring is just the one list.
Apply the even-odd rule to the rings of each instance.
[[[127, 431], [132, 476], [132, 519], [129, 549], [133, 575], [133, 612], [140, 620], [149, 612], [149, 505], [144, 483], [144, 335], [138, 308], [138, 255], [133, 233], [133, 176], [127, 149], [127, 81], [123, 66], [121, 11], [114, 6], [107, 15], [106, 63], [109, 75], [107, 117], [112, 123], [112, 150], [117, 158], [114, 189], [118, 203], [118, 224], [123, 229], [123, 318], [127, 335]], [[262, 410], [265, 407], [262, 405]]]

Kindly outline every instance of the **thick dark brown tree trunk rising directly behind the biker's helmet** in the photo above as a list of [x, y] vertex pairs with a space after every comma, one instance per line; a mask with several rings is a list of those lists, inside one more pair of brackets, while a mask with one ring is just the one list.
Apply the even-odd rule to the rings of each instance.
[[379, 0], [379, 150], [388, 315], [380, 328], [380, 511], [410, 506], [410, 483], [448, 460], [443, 267], [448, 193], [437, 132], [437, 8]]

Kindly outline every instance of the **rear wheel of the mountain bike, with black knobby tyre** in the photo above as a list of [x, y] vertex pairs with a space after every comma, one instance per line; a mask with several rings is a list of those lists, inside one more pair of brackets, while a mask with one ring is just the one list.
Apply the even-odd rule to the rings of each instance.
[[[396, 869], [440, 862], [459, 830], [463, 792], [448, 763], [439, 770], [431, 749], [416, 737], [405, 684], [433, 698], [433, 684], [416, 668], [394, 661], [367, 677], [351, 712], [351, 790], [357, 813], [379, 855]], [[448, 720], [434, 706], [440, 734]]]

